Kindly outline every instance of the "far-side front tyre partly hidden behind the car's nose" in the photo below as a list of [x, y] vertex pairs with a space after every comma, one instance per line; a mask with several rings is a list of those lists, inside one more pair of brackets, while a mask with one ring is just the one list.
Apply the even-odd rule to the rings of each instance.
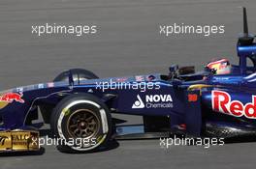
[[94, 74], [90, 70], [72, 69], [72, 70], [63, 71], [60, 74], [58, 74], [53, 79], [53, 82], [68, 81], [69, 80], [69, 71], [72, 72], [74, 81], [99, 78], [96, 74]]

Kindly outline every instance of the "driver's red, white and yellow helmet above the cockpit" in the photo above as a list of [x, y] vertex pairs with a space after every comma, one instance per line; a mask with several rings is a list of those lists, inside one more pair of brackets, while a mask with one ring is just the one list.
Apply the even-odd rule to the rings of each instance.
[[210, 70], [214, 70], [216, 74], [228, 74], [231, 72], [231, 65], [227, 59], [209, 62], [207, 67]]

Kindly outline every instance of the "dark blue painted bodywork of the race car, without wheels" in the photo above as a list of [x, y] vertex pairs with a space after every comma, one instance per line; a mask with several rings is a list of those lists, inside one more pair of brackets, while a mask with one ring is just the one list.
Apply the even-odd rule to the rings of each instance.
[[[145, 130], [149, 132], [152, 126], [164, 124], [171, 132], [195, 136], [229, 137], [254, 133], [256, 43], [243, 37], [238, 42], [237, 51], [240, 65], [232, 66], [229, 74], [218, 75], [206, 70], [177, 75], [178, 69], [172, 67], [167, 75], [153, 73], [74, 80], [72, 71], [67, 71], [67, 81], [3, 91], [1, 130], [39, 127], [32, 123], [37, 119], [39, 109], [44, 123], [48, 124], [52, 109], [61, 99], [88, 93], [106, 103], [112, 113], [152, 117], [150, 122], [144, 121], [144, 127], [149, 127]], [[253, 62], [253, 67], [247, 66], [248, 59]], [[143, 91], [142, 84], [146, 86]], [[156, 129], [162, 131], [164, 127]]]

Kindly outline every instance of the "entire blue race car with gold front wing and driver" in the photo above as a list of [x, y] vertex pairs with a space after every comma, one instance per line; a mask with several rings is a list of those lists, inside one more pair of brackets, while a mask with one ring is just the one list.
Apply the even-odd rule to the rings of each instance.
[[[53, 82], [1, 92], [0, 151], [39, 150], [38, 129], [43, 124], [50, 125], [58, 141], [64, 140], [60, 147], [67, 152], [98, 151], [115, 137], [136, 135], [133, 127], [119, 126], [113, 113], [142, 116], [145, 137], [255, 134], [256, 43], [248, 34], [245, 8], [243, 29], [237, 44], [239, 66], [220, 59], [200, 72], [172, 66], [167, 75], [102, 79], [74, 69], [60, 73]], [[39, 115], [43, 123], [37, 122]], [[82, 144], [71, 144], [72, 139]]]

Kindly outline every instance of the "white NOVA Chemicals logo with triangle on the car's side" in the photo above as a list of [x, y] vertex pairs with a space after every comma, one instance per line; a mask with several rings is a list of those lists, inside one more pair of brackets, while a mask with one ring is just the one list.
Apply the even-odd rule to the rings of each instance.
[[132, 108], [169, 108], [173, 107], [171, 95], [145, 95], [145, 99], [137, 95], [137, 100], [133, 103]]

